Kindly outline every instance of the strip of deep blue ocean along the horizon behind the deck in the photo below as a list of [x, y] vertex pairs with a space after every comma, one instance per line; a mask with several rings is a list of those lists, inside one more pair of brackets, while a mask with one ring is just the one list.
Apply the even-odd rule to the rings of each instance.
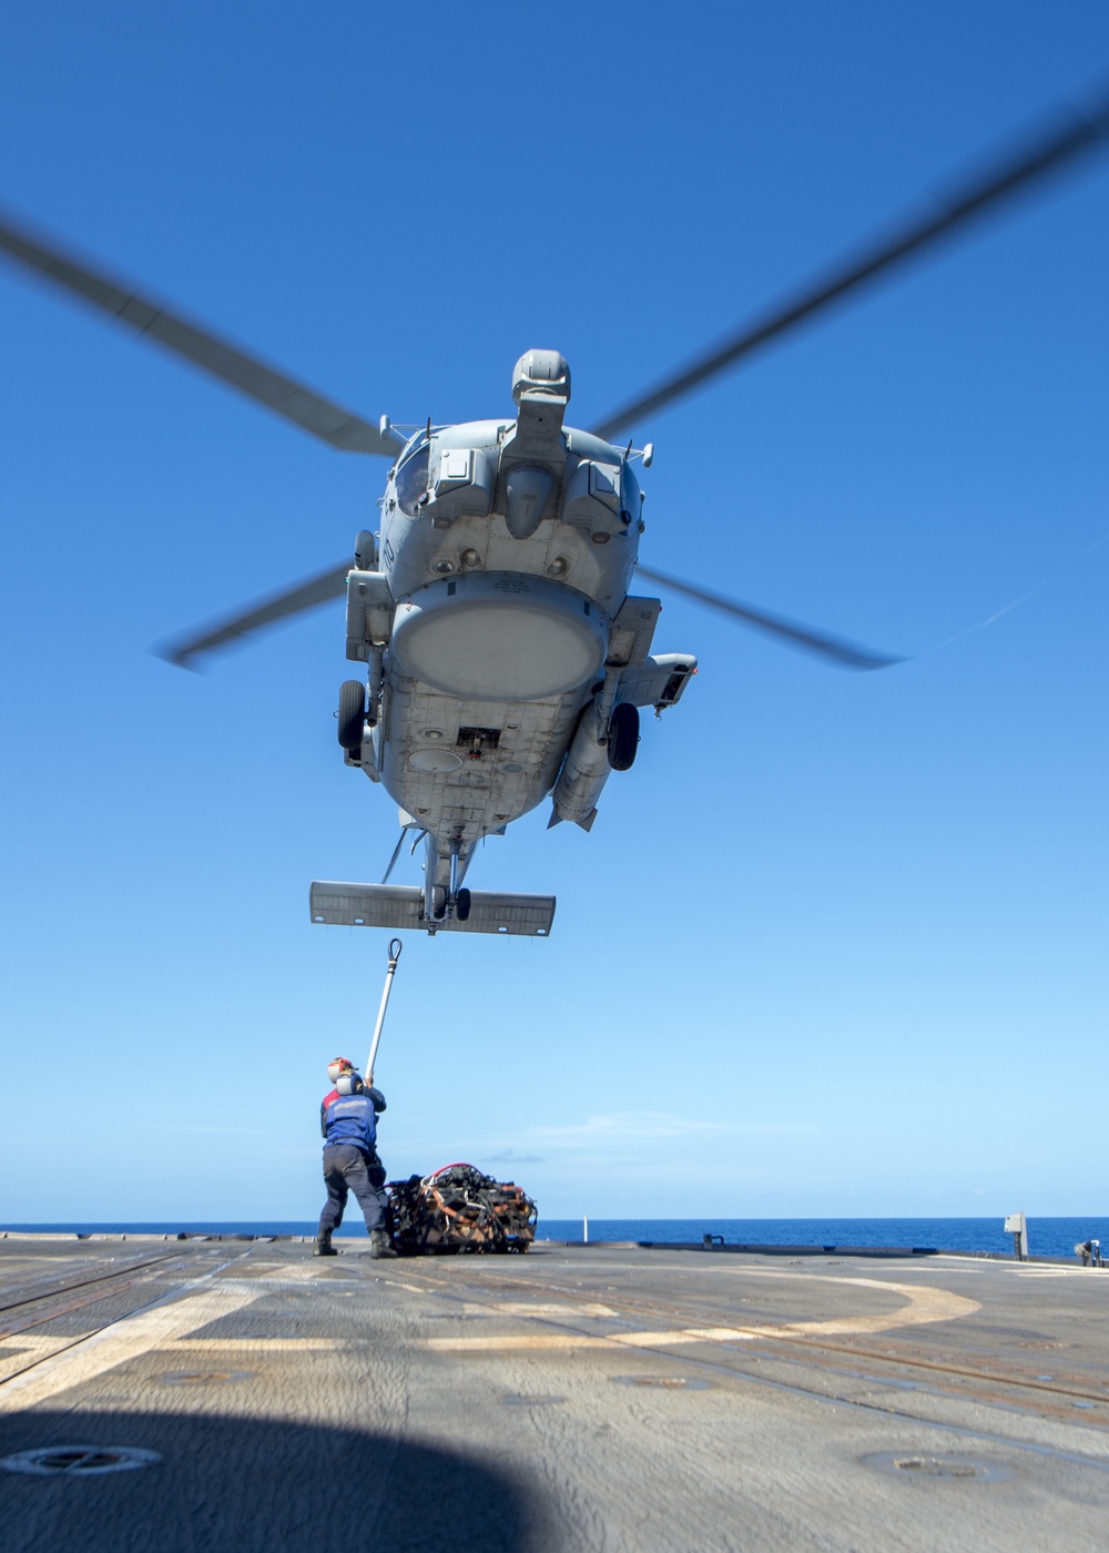
[[[1002, 1218], [988, 1219], [590, 1219], [590, 1241], [680, 1241], [701, 1246], [705, 1235], [724, 1244], [753, 1246], [921, 1246], [941, 1252], [1013, 1252]], [[581, 1219], [539, 1219], [539, 1239], [581, 1241]], [[174, 1221], [166, 1224], [0, 1224], [3, 1230], [68, 1235], [315, 1235], [315, 1221]], [[360, 1235], [354, 1210], [340, 1235]], [[1028, 1219], [1031, 1256], [1073, 1256], [1075, 1246], [1101, 1241], [1109, 1252], [1109, 1218]]]

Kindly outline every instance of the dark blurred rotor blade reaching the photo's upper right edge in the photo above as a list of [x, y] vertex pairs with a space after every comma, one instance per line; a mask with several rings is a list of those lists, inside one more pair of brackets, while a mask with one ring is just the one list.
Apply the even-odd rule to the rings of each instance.
[[1062, 172], [1083, 152], [1104, 148], [1107, 140], [1109, 95], [1101, 95], [1084, 112], [1072, 113], [1036, 140], [1022, 141], [977, 179], [941, 194], [930, 208], [817, 276], [794, 297], [753, 318], [673, 377], [623, 405], [593, 427], [595, 435], [610, 441], [617, 432], [680, 399], [742, 357], [840, 301], [848, 292], [859, 290], [930, 244], [949, 238], [963, 222], [980, 217], [1002, 200], [1025, 193], [1033, 183]]

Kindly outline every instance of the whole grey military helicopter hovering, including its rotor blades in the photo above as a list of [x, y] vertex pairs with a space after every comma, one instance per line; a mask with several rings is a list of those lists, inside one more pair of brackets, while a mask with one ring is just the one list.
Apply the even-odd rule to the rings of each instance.
[[[637, 572], [836, 666], [902, 662], [641, 562], [638, 471], [654, 449], [617, 436], [1106, 140], [1109, 98], [1101, 98], [592, 430], [565, 424], [570, 368], [554, 349], [530, 349], [517, 362], [511, 416], [373, 424], [0, 217], [0, 253], [9, 259], [332, 447], [390, 461], [381, 528], [359, 533], [353, 559], [163, 649], [193, 666], [238, 637], [345, 596], [346, 657], [363, 672], [340, 688], [339, 745], [346, 766], [398, 803], [401, 836], [381, 884], [314, 882], [311, 919], [430, 935], [550, 933], [553, 896], [471, 891], [463, 881], [478, 842], [548, 795], [551, 826], [590, 831], [609, 776], [635, 761], [640, 710], [662, 716], [682, 699], [696, 657], [652, 652], [662, 603], [629, 592]], [[413, 853], [424, 842], [422, 888], [388, 882], [408, 837]]]

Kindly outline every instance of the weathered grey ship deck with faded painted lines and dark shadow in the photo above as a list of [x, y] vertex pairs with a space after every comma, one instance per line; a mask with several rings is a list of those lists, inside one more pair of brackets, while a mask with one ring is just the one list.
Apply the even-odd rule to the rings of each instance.
[[9, 1553], [1109, 1547], [1100, 1270], [340, 1244], [0, 1241]]

